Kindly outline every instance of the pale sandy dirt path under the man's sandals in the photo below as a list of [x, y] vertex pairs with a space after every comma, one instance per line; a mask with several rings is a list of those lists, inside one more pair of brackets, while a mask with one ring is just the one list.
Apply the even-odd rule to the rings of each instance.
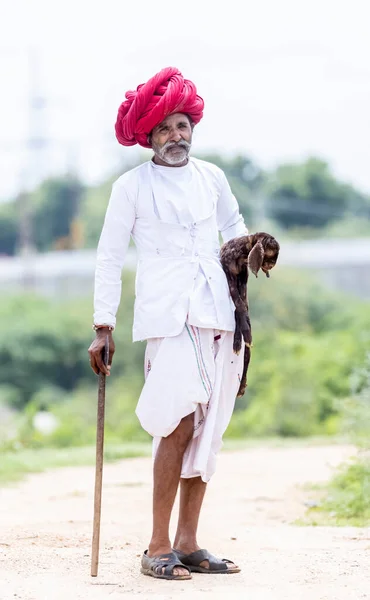
[[105, 467], [100, 573], [89, 576], [94, 470], [66, 468], [0, 490], [1, 600], [360, 600], [370, 598], [370, 533], [295, 527], [310, 494], [353, 454], [344, 446], [224, 453], [200, 541], [242, 573], [156, 581], [139, 573], [151, 523], [151, 461]]

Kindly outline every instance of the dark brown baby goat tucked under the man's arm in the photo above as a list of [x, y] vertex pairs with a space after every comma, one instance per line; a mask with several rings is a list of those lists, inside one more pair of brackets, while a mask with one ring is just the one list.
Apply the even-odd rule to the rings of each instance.
[[279, 250], [280, 246], [276, 239], [263, 232], [234, 238], [221, 247], [221, 264], [235, 304], [234, 352], [239, 354], [242, 340], [245, 343], [244, 369], [238, 398], [243, 396], [247, 387], [247, 371], [252, 346], [247, 296], [248, 270], [251, 270], [256, 277], [259, 270], [262, 270], [269, 277], [269, 271], [278, 259]]

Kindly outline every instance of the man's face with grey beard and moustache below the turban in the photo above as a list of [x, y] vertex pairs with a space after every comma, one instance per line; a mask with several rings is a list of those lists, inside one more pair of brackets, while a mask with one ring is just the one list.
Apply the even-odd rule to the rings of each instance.
[[191, 148], [193, 129], [187, 115], [169, 115], [151, 133], [152, 148], [157, 157], [171, 166], [185, 164]]

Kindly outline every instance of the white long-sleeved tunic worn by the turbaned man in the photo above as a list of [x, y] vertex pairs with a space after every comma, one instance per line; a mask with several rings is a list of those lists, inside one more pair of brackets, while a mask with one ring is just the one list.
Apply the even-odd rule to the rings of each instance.
[[113, 185], [99, 241], [94, 323], [115, 326], [130, 235], [138, 251], [133, 340], [171, 337], [186, 320], [234, 330], [234, 305], [219, 260], [219, 238], [247, 229], [224, 173], [191, 158], [184, 167], [152, 161]]

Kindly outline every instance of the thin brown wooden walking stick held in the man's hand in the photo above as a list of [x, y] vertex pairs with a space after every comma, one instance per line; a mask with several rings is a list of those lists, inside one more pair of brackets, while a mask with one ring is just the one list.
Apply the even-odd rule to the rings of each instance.
[[[104, 363], [109, 359], [109, 337], [105, 340]], [[105, 413], [105, 381], [104, 373], [99, 373], [98, 413], [96, 425], [96, 463], [95, 463], [95, 494], [94, 494], [94, 528], [91, 553], [91, 577], [98, 574], [99, 541], [100, 541], [100, 516], [101, 493], [103, 482], [103, 455], [104, 455], [104, 413]]]

